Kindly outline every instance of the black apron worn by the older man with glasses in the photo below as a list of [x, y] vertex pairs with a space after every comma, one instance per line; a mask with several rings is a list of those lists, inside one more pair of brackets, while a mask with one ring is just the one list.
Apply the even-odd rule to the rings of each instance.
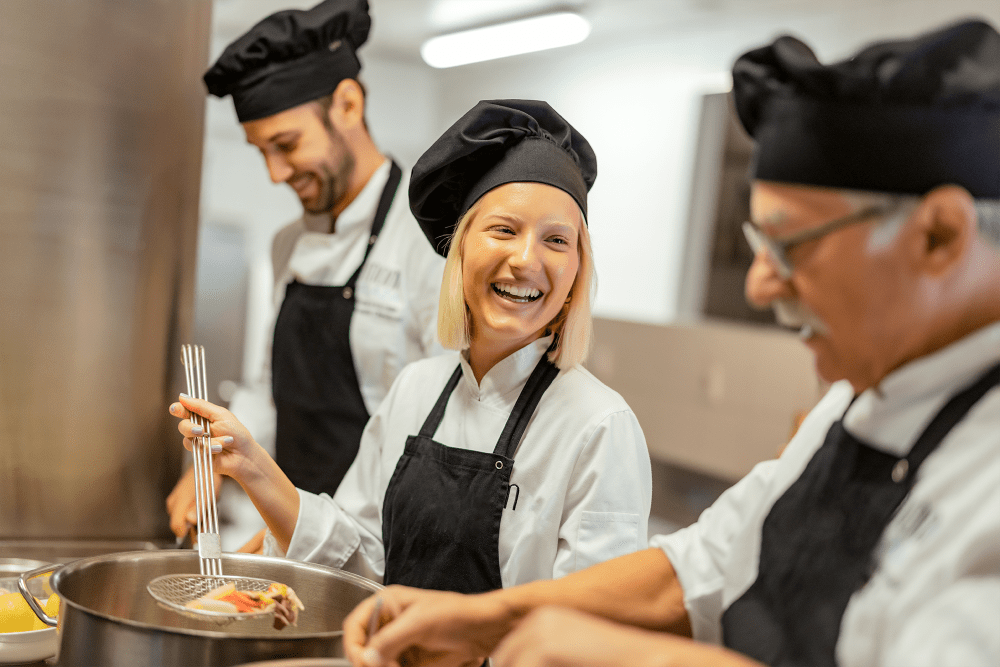
[[841, 617], [920, 464], [998, 384], [1000, 364], [953, 396], [901, 459], [834, 422], [764, 520], [757, 580], [722, 615], [725, 645], [772, 667], [836, 665]]

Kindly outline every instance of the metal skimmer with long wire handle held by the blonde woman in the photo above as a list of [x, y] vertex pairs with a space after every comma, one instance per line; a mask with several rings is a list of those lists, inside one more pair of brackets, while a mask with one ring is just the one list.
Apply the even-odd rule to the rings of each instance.
[[[187, 377], [189, 396], [208, 400], [208, 381], [205, 374], [205, 348], [201, 345], [181, 346], [181, 361]], [[212, 467], [211, 424], [201, 415], [192, 414], [191, 421], [204, 429], [204, 435], [194, 439], [191, 454], [194, 457], [195, 504], [198, 513], [198, 556], [201, 574], [168, 574], [149, 582], [146, 590], [157, 602], [178, 613], [226, 624], [235, 620], [260, 618], [273, 612], [270, 609], [253, 612], [209, 611], [191, 609], [187, 603], [223, 586], [234, 584], [239, 591], [264, 591], [271, 582], [253, 577], [224, 577], [222, 575], [222, 540], [219, 535], [219, 511], [215, 502], [215, 471]]]

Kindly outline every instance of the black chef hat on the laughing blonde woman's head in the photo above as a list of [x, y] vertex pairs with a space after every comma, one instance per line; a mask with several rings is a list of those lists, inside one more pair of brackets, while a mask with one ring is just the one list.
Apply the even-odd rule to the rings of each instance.
[[413, 166], [410, 210], [431, 245], [448, 253], [459, 219], [505, 183], [545, 183], [567, 192], [587, 215], [597, 156], [546, 102], [486, 100], [448, 128]]

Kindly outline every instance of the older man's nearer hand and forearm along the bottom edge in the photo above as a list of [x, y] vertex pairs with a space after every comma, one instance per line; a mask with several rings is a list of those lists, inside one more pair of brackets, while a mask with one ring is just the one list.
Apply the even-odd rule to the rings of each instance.
[[717, 646], [542, 607], [497, 646], [494, 667], [763, 667]]

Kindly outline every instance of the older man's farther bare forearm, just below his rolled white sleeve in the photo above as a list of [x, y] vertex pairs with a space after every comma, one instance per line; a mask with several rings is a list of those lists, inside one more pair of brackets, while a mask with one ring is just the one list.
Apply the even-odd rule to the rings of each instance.
[[645, 549], [552, 581], [487, 593], [515, 623], [545, 605], [569, 607], [650, 630], [691, 636], [684, 591], [666, 554]]

